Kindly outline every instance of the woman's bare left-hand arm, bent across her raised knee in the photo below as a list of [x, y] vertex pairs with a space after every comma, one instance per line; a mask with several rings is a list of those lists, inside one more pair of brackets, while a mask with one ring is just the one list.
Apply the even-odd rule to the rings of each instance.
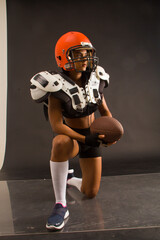
[[51, 127], [55, 133], [67, 135], [82, 143], [85, 142], [85, 136], [75, 132], [70, 127], [63, 124], [61, 102], [52, 95], [50, 95], [48, 101], [48, 115]]

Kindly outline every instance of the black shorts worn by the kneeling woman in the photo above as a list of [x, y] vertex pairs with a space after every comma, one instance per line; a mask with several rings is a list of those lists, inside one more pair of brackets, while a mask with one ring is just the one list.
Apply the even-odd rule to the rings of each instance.
[[[81, 134], [81, 135], [88, 135], [90, 134], [90, 128], [84, 128], [84, 129], [77, 129], [72, 128], [75, 132]], [[79, 142], [79, 157], [80, 158], [94, 158], [94, 157], [101, 157], [101, 151], [99, 147], [90, 147], [86, 144]]]

